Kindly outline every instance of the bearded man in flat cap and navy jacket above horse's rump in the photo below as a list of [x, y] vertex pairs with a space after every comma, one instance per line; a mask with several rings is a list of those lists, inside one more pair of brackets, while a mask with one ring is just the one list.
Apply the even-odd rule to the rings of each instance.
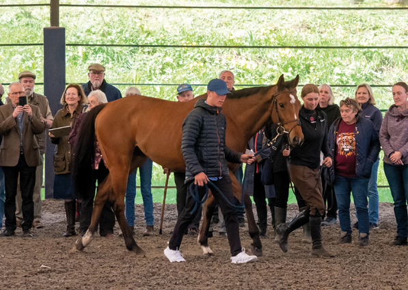
[[122, 98], [122, 94], [118, 88], [110, 85], [105, 80], [105, 67], [100, 64], [91, 64], [88, 66], [88, 77], [90, 81], [82, 85], [83, 92], [88, 96], [93, 90], [101, 90], [105, 93], [108, 102]]

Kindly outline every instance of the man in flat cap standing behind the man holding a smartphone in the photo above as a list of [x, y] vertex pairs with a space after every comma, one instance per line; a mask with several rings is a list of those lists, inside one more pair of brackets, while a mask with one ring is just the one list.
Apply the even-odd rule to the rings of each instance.
[[[20, 72], [18, 75], [18, 82], [21, 83], [25, 90], [25, 95], [28, 98], [29, 105], [37, 106], [40, 109], [41, 121], [45, 125], [45, 129], [49, 129], [53, 124], [53, 114], [49, 106], [49, 101], [46, 96], [42, 94], [37, 94], [34, 92], [34, 85], [36, 84], [36, 75], [29, 70]], [[33, 228], [43, 228], [42, 224], [42, 202], [41, 202], [41, 187], [42, 187], [42, 173], [44, 170], [44, 154], [46, 149], [46, 130], [41, 134], [36, 135], [38, 146], [40, 146], [40, 157], [41, 164], [37, 166], [36, 169], [36, 185], [34, 186], [33, 202], [34, 202], [34, 221]], [[21, 227], [23, 223], [23, 211], [21, 209], [21, 204], [23, 200], [21, 199], [20, 181], [18, 181], [17, 186], [17, 196], [16, 196], [16, 220], [17, 226]]]

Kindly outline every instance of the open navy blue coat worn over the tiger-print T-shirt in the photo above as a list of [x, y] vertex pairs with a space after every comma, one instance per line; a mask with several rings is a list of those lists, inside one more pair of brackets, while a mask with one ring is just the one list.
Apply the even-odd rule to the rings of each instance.
[[[337, 118], [329, 129], [327, 135], [329, 143], [330, 157], [334, 161], [336, 150], [336, 135], [338, 133], [338, 126], [342, 118]], [[357, 121], [355, 122], [355, 174], [365, 179], [369, 179], [371, 176], [372, 164], [377, 161], [378, 155], [381, 150], [379, 135], [374, 127], [374, 124], [366, 119], [360, 118], [357, 115]], [[331, 166], [331, 181], [334, 181], [334, 170], [336, 170], [335, 161]]]

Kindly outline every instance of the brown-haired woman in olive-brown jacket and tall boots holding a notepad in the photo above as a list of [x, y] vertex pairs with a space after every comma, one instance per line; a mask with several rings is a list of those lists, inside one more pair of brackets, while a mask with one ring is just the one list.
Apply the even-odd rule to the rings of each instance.
[[[87, 103], [87, 98], [80, 85], [70, 83], [67, 85], [61, 97], [62, 109], [55, 114], [51, 129], [75, 127], [79, 115], [81, 115], [83, 105]], [[69, 135], [55, 137], [49, 133], [51, 143], [56, 144], [54, 151], [54, 198], [65, 200], [65, 212], [68, 226], [64, 237], [77, 235], [75, 232], [75, 211], [76, 200], [74, 194], [74, 185], [72, 183], [70, 171], [72, 170], [72, 148], [69, 142]]]

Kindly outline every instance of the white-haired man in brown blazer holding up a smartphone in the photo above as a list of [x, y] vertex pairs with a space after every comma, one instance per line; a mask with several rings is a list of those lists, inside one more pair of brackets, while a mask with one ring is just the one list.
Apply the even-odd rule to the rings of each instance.
[[41, 164], [36, 134], [44, 131], [40, 109], [34, 105], [21, 106], [18, 101], [25, 96], [23, 85], [18, 82], [8, 87], [10, 103], [0, 107], [0, 166], [5, 177], [5, 231], [1, 236], [15, 235], [16, 194], [20, 175], [21, 197], [23, 198], [23, 235], [32, 237], [34, 220], [33, 190], [36, 183], [36, 167]]

